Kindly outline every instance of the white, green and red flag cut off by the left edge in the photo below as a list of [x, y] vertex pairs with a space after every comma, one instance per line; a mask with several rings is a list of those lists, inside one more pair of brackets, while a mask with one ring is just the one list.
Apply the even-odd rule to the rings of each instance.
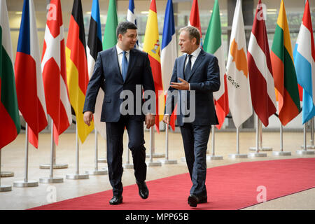
[[13, 53], [6, 1], [0, 2], [0, 150], [20, 133]]

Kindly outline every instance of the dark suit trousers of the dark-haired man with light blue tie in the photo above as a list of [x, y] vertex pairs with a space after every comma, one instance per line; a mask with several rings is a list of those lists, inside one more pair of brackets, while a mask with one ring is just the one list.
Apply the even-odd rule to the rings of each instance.
[[132, 151], [134, 176], [141, 182], [146, 180], [146, 148], [144, 147], [144, 122], [134, 120], [132, 116], [120, 116], [116, 123], [106, 123], [107, 164], [109, 181], [113, 195], [123, 194], [123, 133], [128, 132], [128, 148]]

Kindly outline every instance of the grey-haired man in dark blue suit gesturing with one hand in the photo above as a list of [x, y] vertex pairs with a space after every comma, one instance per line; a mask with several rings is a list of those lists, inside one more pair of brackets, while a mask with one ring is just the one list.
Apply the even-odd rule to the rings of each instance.
[[169, 124], [177, 102], [177, 123], [193, 182], [188, 204], [197, 207], [207, 202], [207, 144], [211, 125], [218, 124], [212, 92], [219, 90], [220, 72], [218, 59], [200, 48], [200, 31], [184, 27], [180, 32], [179, 45], [186, 54], [175, 61], [163, 121]]

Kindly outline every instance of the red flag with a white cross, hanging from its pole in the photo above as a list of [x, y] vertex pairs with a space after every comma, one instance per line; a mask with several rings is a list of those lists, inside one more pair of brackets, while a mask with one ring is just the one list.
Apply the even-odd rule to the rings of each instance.
[[47, 113], [53, 120], [54, 140], [58, 145], [59, 135], [72, 123], [69, 92], [66, 85], [64, 25], [60, 0], [50, 1], [41, 69]]

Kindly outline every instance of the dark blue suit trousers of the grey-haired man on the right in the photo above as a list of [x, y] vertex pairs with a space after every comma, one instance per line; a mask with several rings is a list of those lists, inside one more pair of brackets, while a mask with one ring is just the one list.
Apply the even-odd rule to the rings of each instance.
[[209, 140], [210, 125], [193, 125], [184, 123], [181, 126], [181, 136], [185, 150], [186, 163], [193, 187], [191, 195], [206, 196], [207, 174], [207, 144]]

